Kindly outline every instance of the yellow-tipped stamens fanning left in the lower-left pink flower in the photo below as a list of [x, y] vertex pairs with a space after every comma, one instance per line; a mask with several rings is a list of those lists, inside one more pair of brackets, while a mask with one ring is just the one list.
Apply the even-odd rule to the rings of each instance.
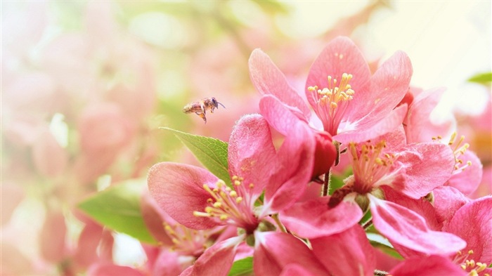
[[258, 219], [252, 211], [250, 199], [241, 197], [236, 191], [240, 191], [240, 194], [247, 196], [249, 193], [244, 191], [245, 189], [252, 189], [253, 184], [248, 185], [246, 188], [242, 185], [242, 177], [233, 176], [232, 180], [235, 190], [227, 187], [223, 180], [217, 181], [216, 188], [213, 189], [204, 184], [203, 188], [212, 197], [207, 199], [208, 206], [205, 207], [205, 212], [194, 211], [193, 214], [212, 218], [222, 225], [235, 225], [239, 228], [244, 228], [247, 232], [252, 232], [257, 228]]

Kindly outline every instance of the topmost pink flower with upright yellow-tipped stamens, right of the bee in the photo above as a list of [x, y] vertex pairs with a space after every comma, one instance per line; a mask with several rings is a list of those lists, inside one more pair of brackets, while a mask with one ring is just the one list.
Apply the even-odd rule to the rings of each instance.
[[[311, 66], [306, 98], [334, 140], [361, 142], [401, 124], [406, 105], [395, 107], [408, 91], [411, 74], [410, 60], [397, 52], [371, 77], [356, 45], [337, 37]], [[250, 57], [250, 77], [261, 94], [275, 96], [309, 121], [309, 107], [261, 50], [254, 50]]]

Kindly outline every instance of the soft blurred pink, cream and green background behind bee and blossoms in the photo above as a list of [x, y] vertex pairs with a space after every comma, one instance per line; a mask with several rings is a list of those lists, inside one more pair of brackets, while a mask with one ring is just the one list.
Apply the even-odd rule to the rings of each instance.
[[[470, 78], [491, 72], [491, 1], [2, 1], [2, 275], [142, 265], [136, 240], [77, 204], [145, 183], [157, 162], [198, 164], [160, 126], [227, 141], [236, 120], [258, 112], [254, 48], [302, 91], [339, 35], [374, 65], [405, 51], [413, 86], [447, 88], [433, 119], [456, 117], [484, 164], [474, 197], [489, 194], [491, 82]], [[181, 111], [206, 97], [226, 107], [207, 124]]]

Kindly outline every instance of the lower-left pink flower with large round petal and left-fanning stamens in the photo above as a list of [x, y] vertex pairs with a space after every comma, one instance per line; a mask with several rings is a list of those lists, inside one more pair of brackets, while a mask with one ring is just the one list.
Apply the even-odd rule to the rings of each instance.
[[[195, 166], [162, 162], [150, 169], [150, 194], [178, 223], [197, 230], [232, 225], [244, 233], [214, 244], [183, 275], [225, 275], [239, 244], [275, 229], [268, 215], [292, 205], [311, 179], [316, 141], [307, 133], [306, 125], [294, 125], [276, 152], [266, 121], [242, 117], [228, 146], [232, 188]], [[255, 206], [263, 191], [263, 204]]]

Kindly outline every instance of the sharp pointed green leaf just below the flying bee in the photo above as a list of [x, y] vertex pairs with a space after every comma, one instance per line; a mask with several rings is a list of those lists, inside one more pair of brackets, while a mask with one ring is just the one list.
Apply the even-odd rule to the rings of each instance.
[[211, 173], [228, 185], [231, 184], [227, 164], [227, 143], [216, 138], [193, 135], [183, 131], [176, 131], [162, 127], [167, 131], [172, 131], [183, 144], [195, 155], [195, 157]]

